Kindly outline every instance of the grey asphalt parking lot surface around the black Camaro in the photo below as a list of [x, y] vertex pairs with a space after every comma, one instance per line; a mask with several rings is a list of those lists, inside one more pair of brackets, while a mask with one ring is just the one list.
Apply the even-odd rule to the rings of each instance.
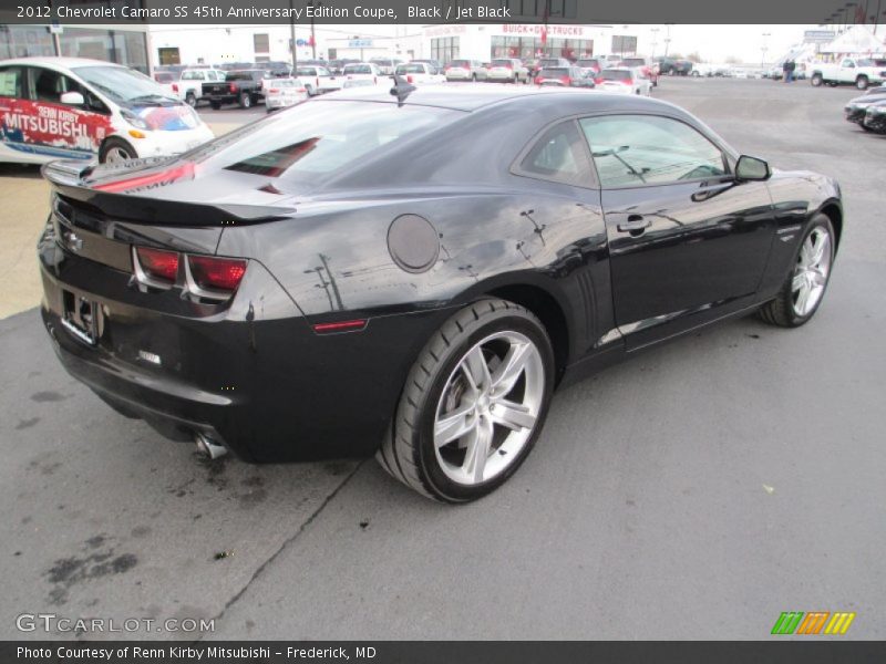
[[210, 463], [113, 413], [33, 309], [47, 188], [0, 168], [0, 228], [27, 240], [0, 268], [0, 639], [43, 637], [16, 618], [48, 612], [215, 619], [210, 639], [760, 640], [783, 611], [886, 637], [886, 136], [843, 121], [857, 94], [663, 80], [741, 152], [839, 179], [825, 301], [802, 329], [742, 319], [560, 392], [519, 473], [456, 508], [373, 460]]

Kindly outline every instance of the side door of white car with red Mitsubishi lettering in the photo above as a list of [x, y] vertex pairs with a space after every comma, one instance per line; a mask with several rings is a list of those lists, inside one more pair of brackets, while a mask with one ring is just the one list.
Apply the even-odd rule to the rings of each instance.
[[[24, 68], [27, 100], [19, 110], [27, 131], [23, 142], [47, 157], [91, 158], [113, 132], [111, 111], [87, 86], [44, 66]], [[80, 93], [83, 104], [62, 103], [65, 93]]]

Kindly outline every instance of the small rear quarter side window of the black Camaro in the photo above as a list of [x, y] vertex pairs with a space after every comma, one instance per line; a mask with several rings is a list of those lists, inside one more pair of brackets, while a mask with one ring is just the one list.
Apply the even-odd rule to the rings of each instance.
[[523, 157], [516, 173], [565, 185], [594, 186], [587, 152], [571, 120], [546, 131]]

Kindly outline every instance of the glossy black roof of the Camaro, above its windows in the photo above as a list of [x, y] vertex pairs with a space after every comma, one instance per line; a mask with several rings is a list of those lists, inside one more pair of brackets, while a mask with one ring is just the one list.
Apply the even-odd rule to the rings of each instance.
[[[626, 70], [630, 71], [630, 70]], [[369, 90], [354, 89], [323, 95], [316, 102], [365, 101], [375, 103], [396, 103], [391, 89], [382, 85]], [[606, 94], [578, 89], [552, 89], [542, 86], [504, 86], [484, 83], [465, 85], [423, 85], [412, 91], [404, 100], [404, 105], [437, 106], [454, 111], [477, 111], [495, 104], [532, 105], [536, 110], [550, 111], [555, 115], [562, 104], [580, 103], [583, 112], [594, 113], [596, 110], [610, 108], [614, 102], [627, 110], [669, 108], [677, 106], [649, 97]]]

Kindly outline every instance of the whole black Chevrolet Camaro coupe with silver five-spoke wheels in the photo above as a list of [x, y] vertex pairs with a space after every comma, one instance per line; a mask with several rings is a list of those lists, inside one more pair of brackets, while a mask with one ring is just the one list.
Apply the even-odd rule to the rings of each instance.
[[808, 321], [843, 227], [832, 179], [578, 90], [344, 91], [44, 175], [43, 321], [102, 400], [210, 454], [374, 453], [450, 502], [517, 469], [558, 385], [754, 310]]

